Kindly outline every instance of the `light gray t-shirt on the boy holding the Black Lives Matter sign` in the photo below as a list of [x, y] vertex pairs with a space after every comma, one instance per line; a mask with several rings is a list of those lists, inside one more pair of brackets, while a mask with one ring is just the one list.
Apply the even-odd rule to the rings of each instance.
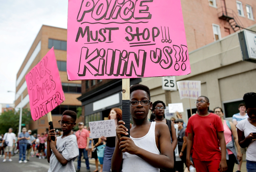
[[52, 152], [50, 157], [50, 168], [48, 172], [69, 172], [69, 171], [76, 171], [74, 167], [73, 161], [78, 157], [79, 150], [77, 145], [77, 137], [73, 134], [61, 138], [62, 136], [57, 137], [56, 147], [57, 150], [62, 154], [62, 156], [67, 159], [69, 162], [67, 165], [62, 166], [58, 159], [56, 158], [55, 154]]

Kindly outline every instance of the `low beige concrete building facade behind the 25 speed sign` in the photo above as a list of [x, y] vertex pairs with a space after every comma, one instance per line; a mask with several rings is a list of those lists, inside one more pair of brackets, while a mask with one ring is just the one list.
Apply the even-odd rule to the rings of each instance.
[[[248, 29], [256, 31], [256, 24]], [[256, 63], [243, 60], [239, 32], [189, 52], [189, 60], [191, 73], [177, 76], [176, 81], [201, 81], [201, 95], [209, 98], [210, 110], [222, 107], [228, 119], [239, 112], [238, 105], [245, 93], [256, 92]], [[142, 78], [140, 83], [150, 88], [152, 102], [183, 103], [182, 118], [188, 121], [189, 99], [180, 100], [179, 91], [162, 90], [161, 77]], [[195, 99], [191, 99], [193, 113], [196, 111], [194, 102]]]

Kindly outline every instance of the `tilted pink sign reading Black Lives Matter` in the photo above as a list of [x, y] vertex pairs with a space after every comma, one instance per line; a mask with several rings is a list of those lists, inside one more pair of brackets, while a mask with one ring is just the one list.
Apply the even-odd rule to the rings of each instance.
[[34, 121], [65, 100], [53, 47], [25, 78]]

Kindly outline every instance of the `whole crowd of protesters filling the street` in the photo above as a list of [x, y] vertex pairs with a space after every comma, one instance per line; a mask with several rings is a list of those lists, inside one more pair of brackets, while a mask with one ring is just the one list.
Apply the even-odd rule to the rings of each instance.
[[[22, 129], [16, 138], [12, 128], [2, 135], [0, 156], [7, 154], [9, 160], [18, 140], [19, 163], [27, 163], [30, 153], [45, 158], [50, 171], [80, 171], [82, 156], [87, 171], [89, 159], [95, 159], [97, 171], [233, 171], [238, 164], [241, 171], [242, 156], [246, 153], [248, 172], [256, 171], [256, 93], [244, 94], [239, 113], [232, 121], [224, 119], [221, 107], [209, 110], [210, 100], [200, 96], [195, 104], [197, 112], [186, 124], [182, 114], [175, 113], [170, 120], [165, 118], [165, 103], [151, 102], [150, 90], [136, 84], [130, 88], [130, 112], [133, 125], [128, 129], [122, 121], [122, 110], [112, 108], [109, 119], [115, 120], [116, 137], [92, 139], [90, 129], [83, 122], [76, 126], [77, 115], [71, 110], [63, 112], [59, 124], [62, 132], [52, 129], [40, 135]], [[152, 111], [148, 120], [148, 112]], [[55, 141], [51, 140], [55, 136]], [[176, 149], [177, 147], [177, 149]], [[4, 149], [3, 149], [4, 148]], [[175, 150], [176, 153], [175, 153]], [[26, 155], [27, 151], [27, 156]], [[37, 153], [38, 151], [38, 153]], [[177, 156], [178, 154], [178, 156]], [[73, 161], [77, 158], [77, 169]], [[98, 165], [100, 164], [100, 169]], [[186, 168], [184, 169], [184, 166]]]

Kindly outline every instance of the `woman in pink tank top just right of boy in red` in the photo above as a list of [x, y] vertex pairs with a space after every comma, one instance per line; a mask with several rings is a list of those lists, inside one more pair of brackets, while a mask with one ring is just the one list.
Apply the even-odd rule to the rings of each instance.
[[[234, 168], [234, 164], [239, 164], [239, 161], [242, 159], [242, 153], [240, 150], [240, 145], [238, 144], [238, 136], [236, 126], [228, 121], [223, 119], [223, 110], [220, 107], [214, 108], [214, 113], [218, 115], [222, 121], [222, 125], [224, 128], [224, 137], [226, 141], [226, 158], [227, 158], [227, 165], [228, 170], [227, 172], [232, 172]], [[237, 146], [238, 153], [236, 152], [234, 143]]]

